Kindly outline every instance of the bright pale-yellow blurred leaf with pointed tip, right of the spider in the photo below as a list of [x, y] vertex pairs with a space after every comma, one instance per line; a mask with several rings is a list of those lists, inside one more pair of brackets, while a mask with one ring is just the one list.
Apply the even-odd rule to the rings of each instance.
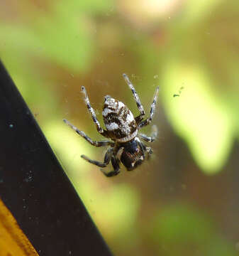
[[211, 82], [200, 67], [172, 62], [165, 68], [162, 86], [172, 126], [208, 174], [222, 168], [233, 144], [230, 114], [210, 90]]

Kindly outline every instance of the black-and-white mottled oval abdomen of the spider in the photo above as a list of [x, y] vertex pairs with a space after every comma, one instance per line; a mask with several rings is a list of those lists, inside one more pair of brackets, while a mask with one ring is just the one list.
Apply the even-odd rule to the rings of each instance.
[[133, 114], [123, 102], [107, 95], [102, 115], [111, 139], [128, 142], [137, 135], [138, 129]]

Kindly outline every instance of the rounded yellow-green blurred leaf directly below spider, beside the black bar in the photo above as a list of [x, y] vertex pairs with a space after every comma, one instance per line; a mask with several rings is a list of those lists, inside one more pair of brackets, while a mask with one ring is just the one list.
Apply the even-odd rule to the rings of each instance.
[[92, 203], [88, 201], [87, 208], [89, 207], [90, 212], [93, 213], [96, 222], [101, 223], [107, 236], [123, 240], [132, 233], [139, 208], [138, 193], [132, 186], [114, 184], [102, 191], [91, 191], [91, 193], [87, 191], [84, 196], [90, 198], [89, 201], [93, 201]]

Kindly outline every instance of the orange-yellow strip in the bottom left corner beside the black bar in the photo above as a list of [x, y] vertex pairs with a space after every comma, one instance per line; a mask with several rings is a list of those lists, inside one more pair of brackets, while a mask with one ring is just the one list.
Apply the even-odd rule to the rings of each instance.
[[39, 256], [1, 199], [0, 256]]

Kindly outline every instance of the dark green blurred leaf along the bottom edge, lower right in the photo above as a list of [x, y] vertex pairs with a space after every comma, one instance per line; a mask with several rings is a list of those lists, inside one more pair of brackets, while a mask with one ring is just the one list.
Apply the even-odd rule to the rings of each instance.
[[152, 240], [164, 255], [237, 255], [212, 220], [194, 208], [177, 204], [161, 209], [152, 221]]

